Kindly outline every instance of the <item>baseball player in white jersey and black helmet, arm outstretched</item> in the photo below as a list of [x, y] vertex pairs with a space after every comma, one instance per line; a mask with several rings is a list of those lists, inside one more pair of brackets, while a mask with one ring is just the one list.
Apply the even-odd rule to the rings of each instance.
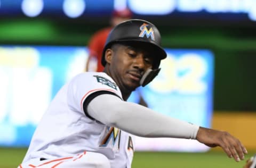
[[244, 159], [245, 147], [228, 132], [125, 101], [156, 77], [165, 57], [154, 24], [134, 19], [114, 27], [103, 49], [103, 72], [78, 74], [59, 90], [19, 167], [129, 168], [134, 150], [131, 135], [196, 139], [222, 147], [237, 162]]

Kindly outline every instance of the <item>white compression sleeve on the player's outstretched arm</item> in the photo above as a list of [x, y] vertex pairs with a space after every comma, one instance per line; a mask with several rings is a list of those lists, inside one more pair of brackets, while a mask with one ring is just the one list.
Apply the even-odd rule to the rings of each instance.
[[110, 94], [91, 100], [88, 114], [95, 120], [141, 137], [196, 139], [199, 126], [157, 113], [147, 107], [124, 102]]

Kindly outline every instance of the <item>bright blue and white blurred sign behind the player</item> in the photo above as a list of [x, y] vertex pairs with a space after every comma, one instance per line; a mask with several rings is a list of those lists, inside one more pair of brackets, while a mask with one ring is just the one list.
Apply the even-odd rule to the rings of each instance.
[[[214, 57], [206, 49], [166, 49], [161, 72], [129, 101], [211, 127]], [[87, 48], [0, 47], [0, 145], [28, 146], [41, 116], [58, 90], [83, 72]]]

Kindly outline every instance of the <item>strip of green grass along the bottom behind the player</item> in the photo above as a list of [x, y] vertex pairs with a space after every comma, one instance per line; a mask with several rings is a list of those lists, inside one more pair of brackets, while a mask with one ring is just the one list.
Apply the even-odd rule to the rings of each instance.
[[[0, 148], [0, 167], [16, 168], [22, 161], [25, 148]], [[249, 150], [246, 158], [255, 152]], [[230, 159], [225, 153], [210, 151], [207, 153], [174, 153], [174, 152], [135, 152], [133, 168], [242, 168], [246, 161], [239, 163]]]

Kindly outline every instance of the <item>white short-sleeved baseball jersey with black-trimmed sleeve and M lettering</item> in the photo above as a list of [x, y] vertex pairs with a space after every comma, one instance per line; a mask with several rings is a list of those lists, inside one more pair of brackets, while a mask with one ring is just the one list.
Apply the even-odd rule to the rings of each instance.
[[105, 155], [111, 167], [131, 167], [133, 144], [129, 133], [95, 121], [84, 112], [83, 105], [102, 93], [122, 99], [114, 80], [103, 72], [78, 74], [63, 86], [39, 122], [23, 163], [88, 151]]

